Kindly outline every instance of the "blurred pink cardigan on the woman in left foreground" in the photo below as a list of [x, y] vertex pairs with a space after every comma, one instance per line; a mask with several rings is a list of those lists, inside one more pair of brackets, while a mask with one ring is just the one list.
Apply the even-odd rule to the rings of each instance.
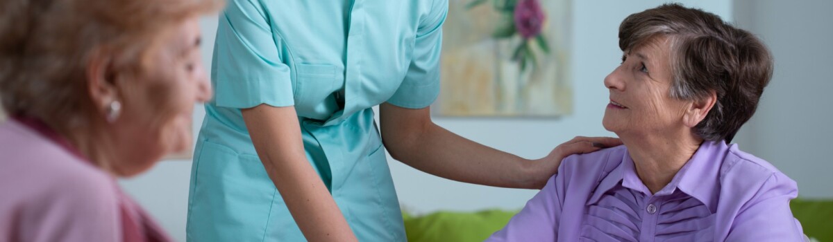
[[0, 242], [170, 241], [147, 212], [33, 119], [0, 124]]

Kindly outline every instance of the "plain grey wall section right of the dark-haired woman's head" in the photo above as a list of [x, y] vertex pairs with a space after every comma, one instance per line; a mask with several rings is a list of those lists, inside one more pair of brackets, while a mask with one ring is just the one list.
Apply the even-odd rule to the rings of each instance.
[[775, 71], [741, 145], [798, 182], [799, 196], [833, 197], [833, 1], [736, 0], [740, 27], [760, 36]]

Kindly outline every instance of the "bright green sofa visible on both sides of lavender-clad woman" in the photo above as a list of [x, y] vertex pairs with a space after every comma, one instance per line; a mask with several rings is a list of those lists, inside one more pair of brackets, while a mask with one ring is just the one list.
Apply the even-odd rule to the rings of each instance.
[[[818, 241], [833, 242], [833, 201], [791, 201], [796, 219], [801, 221], [804, 234]], [[517, 211], [440, 211], [427, 215], [403, 212], [408, 241], [483, 241], [503, 228]]]

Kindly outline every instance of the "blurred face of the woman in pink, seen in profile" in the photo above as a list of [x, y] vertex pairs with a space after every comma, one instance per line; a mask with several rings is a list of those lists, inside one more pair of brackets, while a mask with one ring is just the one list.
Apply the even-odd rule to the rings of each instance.
[[[191, 148], [192, 111], [212, 97], [211, 85], [200, 56], [197, 17], [174, 27], [150, 53], [152, 68], [135, 80], [123, 81], [123, 112], [117, 123], [122, 135], [120, 161], [113, 168], [120, 176], [147, 170], [170, 152]], [[126, 140], [127, 139], [127, 140]]]

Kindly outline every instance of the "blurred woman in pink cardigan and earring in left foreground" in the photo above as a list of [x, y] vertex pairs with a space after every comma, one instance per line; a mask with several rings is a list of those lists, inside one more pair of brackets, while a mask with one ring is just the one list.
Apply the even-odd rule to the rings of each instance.
[[198, 0], [0, 3], [0, 241], [165, 241], [115, 177], [191, 148]]

